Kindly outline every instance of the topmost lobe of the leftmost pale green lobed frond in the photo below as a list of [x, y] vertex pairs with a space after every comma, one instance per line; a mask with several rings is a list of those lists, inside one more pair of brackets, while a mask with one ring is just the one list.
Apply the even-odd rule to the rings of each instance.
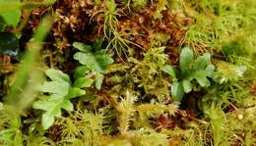
[[62, 73], [59, 70], [48, 69], [45, 73], [51, 80], [58, 82], [70, 82], [69, 75], [66, 73]]

